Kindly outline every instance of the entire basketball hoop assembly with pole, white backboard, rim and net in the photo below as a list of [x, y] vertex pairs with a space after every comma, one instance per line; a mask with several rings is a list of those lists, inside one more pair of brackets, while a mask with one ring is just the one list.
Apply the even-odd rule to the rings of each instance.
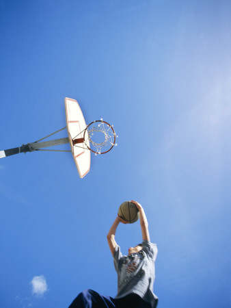
[[[111, 151], [113, 146], [117, 146], [116, 138], [118, 138], [118, 136], [116, 136], [113, 125], [109, 125], [109, 123], [103, 121], [103, 118], [86, 125], [79, 103], [74, 99], [68, 99], [68, 97], [65, 98], [65, 112], [66, 127], [63, 127], [54, 133], [50, 133], [48, 136], [36, 140], [35, 142], [23, 144], [22, 146], [13, 149], [0, 151], [0, 159], [18, 153], [33, 151], [72, 152], [74, 163], [79, 172], [79, 177], [85, 177], [87, 172], [90, 171], [91, 151], [95, 155], [105, 154]], [[68, 137], [42, 141], [64, 129], [67, 129]], [[59, 146], [67, 143], [70, 144], [70, 151], [46, 149], [51, 146]]]

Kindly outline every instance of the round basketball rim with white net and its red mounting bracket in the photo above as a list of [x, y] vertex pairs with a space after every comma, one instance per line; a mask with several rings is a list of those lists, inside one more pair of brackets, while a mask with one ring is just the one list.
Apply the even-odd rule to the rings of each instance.
[[[87, 149], [95, 155], [105, 154], [111, 151], [113, 146], [117, 146], [116, 131], [113, 129], [113, 125], [105, 122], [102, 118], [87, 125], [83, 131], [83, 138], [73, 138], [72, 143], [73, 146], [78, 146], [77, 144], [80, 143], [85, 144]], [[90, 144], [93, 149], [90, 148]]]

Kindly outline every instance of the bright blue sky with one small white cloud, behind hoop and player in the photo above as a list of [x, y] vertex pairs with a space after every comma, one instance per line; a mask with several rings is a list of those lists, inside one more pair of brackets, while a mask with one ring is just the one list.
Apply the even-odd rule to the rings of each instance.
[[[228, 0], [0, 0], [0, 150], [65, 127], [65, 97], [119, 136], [84, 179], [70, 153], [0, 160], [1, 307], [115, 296], [106, 235], [131, 199], [159, 308], [231, 306], [230, 16]], [[116, 235], [126, 254], [139, 222]]]

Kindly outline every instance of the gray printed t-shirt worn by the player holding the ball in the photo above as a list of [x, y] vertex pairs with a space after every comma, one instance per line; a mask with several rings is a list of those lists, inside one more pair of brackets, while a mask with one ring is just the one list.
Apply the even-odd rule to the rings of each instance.
[[157, 244], [144, 240], [143, 249], [132, 255], [122, 255], [120, 246], [114, 251], [114, 265], [118, 273], [118, 294], [138, 294], [143, 300], [157, 307], [158, 297], [152, 292], [155, 278], [154, 261], [157, 258]]

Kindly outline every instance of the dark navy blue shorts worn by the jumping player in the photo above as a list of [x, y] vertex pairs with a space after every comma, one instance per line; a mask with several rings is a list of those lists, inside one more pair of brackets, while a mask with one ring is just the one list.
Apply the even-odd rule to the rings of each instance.
[[69, 308], [151, 308], [137, 294], [116, 299], [111, 296], [100, 295], [93, 290], [84, 290], [75, 298]]

